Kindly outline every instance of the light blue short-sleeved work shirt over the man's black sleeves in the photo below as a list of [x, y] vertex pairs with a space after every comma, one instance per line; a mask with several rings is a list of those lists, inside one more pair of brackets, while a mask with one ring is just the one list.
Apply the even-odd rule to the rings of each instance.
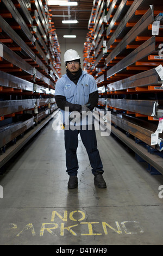
[[[82, 71], [77, 85], [68, 78], [67, 74], [63, 75], [55, 84], [55, 95], [62, 95], [66, 97], [66, 101], [74, 104], [85, 105], [89, 101], [89, 94], [98, 90], [95, 78], [87, 72]], [[61, 110], [63, 117], [66, 117], [65, 111]], [[70, 112], [68, 113], [68, 115]], [[66, 118], [65, 118], [66, 119]], [[67, 121], [62, 119], [63, 123]], [[86, 119], [85, 119], [86, 120]], [[80, 125], [76, 122], [76, 125]], [[82, 125], [86, 124], [82, 119]]]

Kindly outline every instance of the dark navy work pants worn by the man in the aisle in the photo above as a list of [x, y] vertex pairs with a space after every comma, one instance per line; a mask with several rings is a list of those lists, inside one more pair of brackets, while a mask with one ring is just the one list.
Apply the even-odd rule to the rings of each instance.
[[92, 130], [65, 130], [65, 149], [66, 149], [66, 172], [68, 175], [77, 175], [78, 173], [78, 159], [77, 159], [77, 148], [78, 148], [78, 134], [86, 148], [89, 156], [90, 164], [92, 167], [92, 173], [103, 171], [103, 165], [97, 149], [97, 139], [95, 127], [93, 125]]

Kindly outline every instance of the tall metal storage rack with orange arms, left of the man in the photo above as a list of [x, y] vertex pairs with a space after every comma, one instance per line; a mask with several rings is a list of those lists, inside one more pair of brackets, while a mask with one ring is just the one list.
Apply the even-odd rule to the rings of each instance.
[[55, 114], [60, 46], [46, 0], [0, 1], [0, 167]]

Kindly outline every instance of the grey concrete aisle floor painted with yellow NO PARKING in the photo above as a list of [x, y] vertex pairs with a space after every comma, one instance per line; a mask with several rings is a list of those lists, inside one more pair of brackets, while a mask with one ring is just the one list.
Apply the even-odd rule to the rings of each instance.
[[78, 188], [67, 189], [64, 131], [53, 120], [0, 176], [0, 245], [162, 245], [162, 175], [97, 131], [106, 189], [79, 138]]

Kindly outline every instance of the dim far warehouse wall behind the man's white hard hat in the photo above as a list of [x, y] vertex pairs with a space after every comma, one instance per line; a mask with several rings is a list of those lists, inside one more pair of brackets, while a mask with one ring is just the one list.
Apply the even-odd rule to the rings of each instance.
[[[58, 35], [58, 40], [60, 44], [61, 51], [61, 74], [65, 74], [65, 63], [64, 63], [64, 53], [68, 49], [74, 49], [79, 53], [81, 57], [81, 63], [83, 68], [83, 48], [84, 42], [87, 34], [87, 30], [73, 30], [71, 33], [67, 32], [67, 30], [56, 31]], [[63, 35], [72, 34], [77, 35], [77, 38], [63, 38]]]

